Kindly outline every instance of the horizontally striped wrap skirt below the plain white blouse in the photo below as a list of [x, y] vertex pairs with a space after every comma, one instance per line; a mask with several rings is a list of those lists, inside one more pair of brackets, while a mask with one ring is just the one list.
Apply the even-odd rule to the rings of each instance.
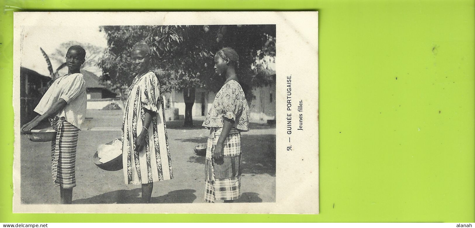
[[79, 128], [64, 117], [49, 119], [56, 130], [56, 139], [51, 141], [51, 173], [54, 186], [69, 189], [76, 187], [76, 146]]

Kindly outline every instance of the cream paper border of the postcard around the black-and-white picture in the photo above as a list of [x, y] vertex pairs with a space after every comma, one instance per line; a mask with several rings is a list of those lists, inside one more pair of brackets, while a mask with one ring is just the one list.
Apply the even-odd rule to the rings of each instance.
[[[77, 18], [87, 18], [81, 27], [117, 25], [274, 25], [276, 37], [276, 200], [275, 202], [240, 202], [236, 204], [23, 204], [20, 196], [21, 159], [19, 124], [19, 68], [21, 31], [26, 26], [71, 25]], [[123, 18], [128, 20], [123, 21]], [[14, 213], [233, 213], [233, 214], [318, 214], [318, 12], [317, 11], [218, 11], [218, 12], [18, 12], [14, 15]], [[306, 29], [305, 26], [315, 26]], [[311, 40], [314, 40], [313, 42]], [[298, 54], [295, 50], [300, 50]], [[23, 50], [25, 52], [25, 50]], [[280, 56], [280, 57], [279, 57]], [[306, 62], [298, 57], [305, 57]], [[293, 76], [293, 80], [290, 80]], [[306, 78], [306, 77], [311, 78]], [[304, 79], [306, 83], [299, 79]], [[289, 83], [292, 81], [292, 83]], [[291, 91], [291, 92], [290, 92]], [[290, 95], [289, 95], [290, 94]], [[300, 100], [300, 103], [299, 103]], [[292, 103], [289, 103], [292, 101]], [[303, 102], [303, 103], [302, 103]], [[297, 106], [300, 106], [298, 108]], [[299, 110], [299, 111], [297, 111]], [[292, 134], [289, 132], [292, 115]], [[304, 128], [299, 127], [304, 115]], [[301, 122], [301, 121], [300, 121]], [[252, 131], [252, 128], [251, 128]], [[305, 140], [305, 134], [312, 140]], [[310, 136], [308, 135], [308, 136]], [[292, 143], [291, 142], [292, 139]], [[288, 141], [288, 142], [287, 142]], [[287, 143], [286, 143], [287, 142]], [[291, 147], [291, 149], [289, 149]], [[312, 149], [307, 149], [312, 148]], [[245, 152], [245, 153], [252, 153]], [[176, 166], [175, 166], [176, 168]], [[296, 177], [296, 178], [292, 178]], [[180, 181], [180, 180], [177, 180]], [[288, 188], [287, 186], [293, 186]], [[197, 193], [199, 197], [200, 193]], [[313, 196], [301, 201], [301, 195]]]

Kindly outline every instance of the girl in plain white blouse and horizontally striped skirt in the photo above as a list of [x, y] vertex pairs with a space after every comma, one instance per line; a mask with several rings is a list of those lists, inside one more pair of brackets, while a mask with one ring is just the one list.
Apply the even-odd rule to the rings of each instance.
[[55, 186], [59, 185], [61, 203], [71, 204], [76, 187], [76, 146], [81, 124], [86, 114], [86, 87], [80, 73], [86, 52], [81, 46], [71, 46], [66, 53], [68, 73], [55, 80], [38, 106], [39, 115], [21, 127], [23, 134], [48, 119], [57, 131], [51, 142], [51, 171]]

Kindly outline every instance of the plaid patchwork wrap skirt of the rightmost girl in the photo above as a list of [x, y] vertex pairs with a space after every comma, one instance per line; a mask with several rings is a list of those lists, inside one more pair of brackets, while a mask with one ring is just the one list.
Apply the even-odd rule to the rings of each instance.
[[241, 187], [241, 133], [233, 128], [226, 137], [223, 156], [216, 160], [213, 151], [222, 128], [211, 128], [206, 149], [205, 201], [236, 200]]

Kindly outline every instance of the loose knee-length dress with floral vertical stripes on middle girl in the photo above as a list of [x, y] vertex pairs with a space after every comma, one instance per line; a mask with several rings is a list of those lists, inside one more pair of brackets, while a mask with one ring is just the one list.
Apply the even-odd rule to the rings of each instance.
[[[135, 151], [135, 138], [151, 110], [148, 140], [142, 151]], [[160, 85], [154, 73], [137, 75], [129, 88], [123, 113], [123, 174], [126, 184], [151, 183], [173, 178]]]

